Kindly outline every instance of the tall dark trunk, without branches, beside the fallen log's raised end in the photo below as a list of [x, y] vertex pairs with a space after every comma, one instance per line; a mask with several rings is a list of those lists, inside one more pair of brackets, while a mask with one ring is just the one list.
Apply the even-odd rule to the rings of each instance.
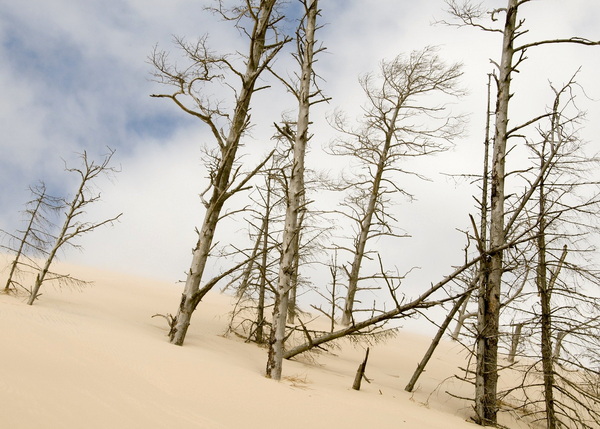
[[[518, 0], [508, 0], [504, 25], [502, 57], [498, 73], [498, 94], [496, 103], [496, 129], [491, 176], [490, 248], [502, 249], [504, 233], [504, 182], [505, 156], [508, 133], [508, 106], [514, 38], [517, 23]], [[479, 299], [477, 341], [477, 368], [475, 376], [475, 412], [482, 425], [497, 423], [498, 390], [498, 335], [500, 323], [500, 292], [503, 273], [503, 251], [496, 250], [490, 255], [489, 277], [485, 291]]]

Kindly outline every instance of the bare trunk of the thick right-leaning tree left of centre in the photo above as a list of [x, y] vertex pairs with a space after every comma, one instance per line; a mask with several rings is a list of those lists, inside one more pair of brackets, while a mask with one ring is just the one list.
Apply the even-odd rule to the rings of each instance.
[[183, 345], [192, 313], [209, 291], [207, 288], [201, 289], [200, 283], [213, 244], [221, 210], [228, 198], [227, 190], [230, 186], [231, 171], [236, 160], [240, 138], [247, 127], [248, 109], [254, 93], [256, 79], [264, 69], [261, 57], [266, 50], [265, 37], [275, 3], [276, 0], [263, 0], [260, 5], [258, 19], [250, 41], [250, 54], [246, 71], [242, 77], [242, 88], [236, 99], [235, 111], [227, 139], [224, 146], [221, 147], [221, 160], [213, 182], [212, 196], [207, 204], [198, 242], [193, 250], [192, 263], [187, 274], [175, 323], [169, 332], [172, 344]]

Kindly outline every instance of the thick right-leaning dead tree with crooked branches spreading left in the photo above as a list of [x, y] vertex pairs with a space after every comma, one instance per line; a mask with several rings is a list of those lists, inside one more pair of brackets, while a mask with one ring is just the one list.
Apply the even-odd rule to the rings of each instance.
[[[210, 192], [210, 198], [203, 198], [206, 211], [192, 252], [192, 262], [179, 308], [169, 332], [172, 344], [183, 345], [192, 313], [204, 295], [223, 277], [217, 276], [201, 285], [225, 202], [239, 191], [247, 189], [248, 181], [267, 162], [265, 159], [246, 174], [242, 174], [239, 168], [234, 168], [238, 160], [240, 140], [250, 126], [252, 96], [256, 91], [264, 89], [257, 86], [259, 76], [289, 41], [280, 35], [277, 28], [279, 21], [283, 19], [275, 12], [277, 3], [276, 0], [240, 1], [238, 6], [228, 10], [224, 2], [218, 2], [214, 12], [225, 20], [234, 22], [240, 32], [248, 37], [248, 51], [245, 55], [240, 54], [244, 68], [238, 68], [229, 55], [212, 52], [207, 36], [196, 43], [176, 39], [177, 46], [190, 62], [183, 69], [170, 64], [168, 54], [164, 51], [155, 49], [150, 56], [155, 79], [174, 87], [172, 93], [154, 94], [153, 97], [170, 99], [184, 112], [205, 123], [217, 144], [215, 151], [209, 151], [210, 185], [202, 195]], [[227, 80], [228, 77], [231, 79]], [[234, 88], [234, 80], [239, 82], [237, 88]], [[226, 111], [219, 100], [210, 99], [211, 82], [232, 88], [232, 111]]]

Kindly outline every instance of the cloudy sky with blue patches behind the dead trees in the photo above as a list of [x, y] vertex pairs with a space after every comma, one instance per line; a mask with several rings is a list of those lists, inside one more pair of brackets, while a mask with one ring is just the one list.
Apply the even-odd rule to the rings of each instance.
[[[292, 0], [293, 1], [293, 0]], [[120, 221], [84, 237], [82, 251], [63, 259], [173, 283], [189, 268], [194, 229], [203, 208], [198, 194], [206, 171], [201, 149], [210, 147], [206, 127], [167, 100], [152, 81], [148, 56], [155, 46], [172, 50], [173, 36], [194, 40], [209, 34], [212, 48], [232, 52], [243, 39], [208, 11], [208, 0], [0, 0], [0, 229], [22, 226], [20, 211], [30, 199], [28, 186], [43, 180], [55, 194], [72, 193], [73, 177], [65, 162], [76, 165], [79, 153], [101, 157], [116, 150], [120, 172], [98, 183], [102, 201], [90, 207], [88, 220], [123, 213]], [[489, 8], [504, 0], [485, 0]], [[600, 40], [600, 2], [534, 0], [522, 8], [530, 32], [523, 40], [581, 36]], [[448, 62], [462, 62], [462, 86], [468, 96], [453, 109], [469, 115], [467, 133], [454, 148], [433, 160], [416, 163], [431, 180], [408, 182], [412, 203], [399, 201], [396, 214], [412, 238], [389, 246], [401, 271], [420, 267], [415, 282], [436, 283], [462, 262], [464, 230], [474, 213], [476, 188], [448, 174], [479, 173], [484, 130], [485, 87], [500, 55], [500, 37], [436, 21], [449, 19], [442, 0], [322, 0], [317, 34], [326, 47], [316, 64], [321, 87], [331, 101], [315, 107], [309, 161], [339, 174], [322, 149], [335, 137], [326, 117], [343, 109], [360, 113], [358, 77], [379, 62], [427, 45], [439, 47]], [[174, 54], [176, 55], [176, 53]], [[289, 57], [275, 67], [285, 70]], [[581, 66], [578, 105], [588, 112], [582, 136], [600, 150], [600, 47], [555, 46], [528, 52], [516, 77], [513, 123], [543, 111], [551, 102], [548, 82], [560, 84]], [[251, 155], [268, 151], [272, 123], [292, 104], [285, 91], [258, 93], [252, 107], [254, 128], [244, 142]], [[287, 98], [286, 98], [287, 97]], [[279, 102], [279, 100], [285, 100]], [[287, 106], [287, 107], [286, 107]], [[243, 196], [233, 204], [244, 204]], [[233, 207], [232, 207], [233, 208]], [[229, 225], [226, 241], [245, 225]], [[396, 262], [395, 262], [396, 263]], [[417, 285], [418, 286], [418, 285]], [[419, 286], [419, 287], [421, 287]]]

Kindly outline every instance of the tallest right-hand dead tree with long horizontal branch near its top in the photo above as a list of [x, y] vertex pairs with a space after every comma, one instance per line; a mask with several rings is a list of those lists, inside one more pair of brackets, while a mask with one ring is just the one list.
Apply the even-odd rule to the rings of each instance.
[[[518, 45], [518, 38], [525, 34], [524, 21], [517, 19], [519, 7], [530, 3], [531, 0], [507, 0], [507, 6], [491, 12], [482, 9], [480, 4], [471, 1], [458, 2], [447, 0], [450, 14], [456, 19], [451, 25], [471, 26], [480, 30], [502, 35], [502, 50], [500, 62], [497, 66], [497, 96], [495, 127], [493, 139], [493, 155], [490, 183], [490, 251], [489, 252], [489, 277], [486, 290], [480, 296], [478, 312], [478, 341], [477, 341], [477, 368], [475, 379], [475, 412], [476, 421], [481, 425], [495, 425], [497, 423], [498, 401], [498, 336], [500, 319], [500, 297], [502, 274], [504, 272], [503, 250], [507, 241], [507, 228], [505, 225], [505, 179], [507, 142], [522, 127], [512, 130], [508, 127], [509, 105], [513, 98], [511, 94], [511, 81], [518, 71], [519, 65], [527, 58], [527, 50], [536, 46], [573, 43], [581, 45], [598, 45], [580, 37], [564, 39], [540, 40]], [[494, 24], [482, 23], [484, 18], [491, 18], [498, 22], [499, 16], [504, 15], [504, 25], [496, 27]]]

